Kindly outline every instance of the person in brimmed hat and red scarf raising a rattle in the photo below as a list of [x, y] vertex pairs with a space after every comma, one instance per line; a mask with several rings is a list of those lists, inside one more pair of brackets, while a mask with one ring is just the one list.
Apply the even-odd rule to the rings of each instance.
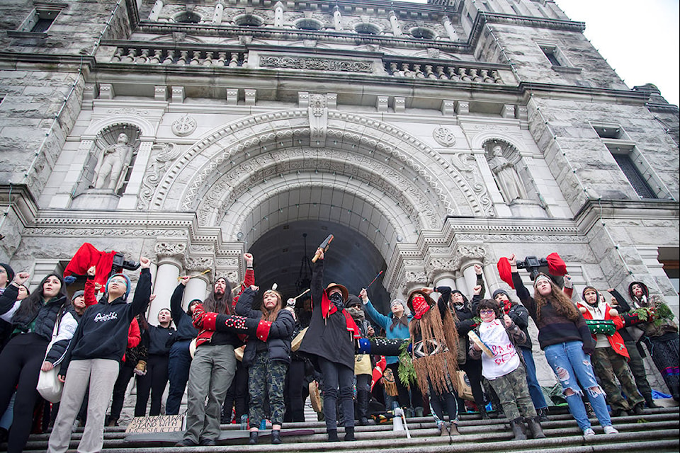
[[336, 406], [340, 396], [345, 423], [345, 440], [354, 437], [354, 348], [359, 329], [345, 311], [349, 292], [343, 285], [331, 283], [324, 289], [324, 251], [317, 248], [318, 260], [312, 269], [312, 319], [302, 339], [299, 352], [311, 355], [324, 377], [324, 417], [329, 442], [337, 442]]

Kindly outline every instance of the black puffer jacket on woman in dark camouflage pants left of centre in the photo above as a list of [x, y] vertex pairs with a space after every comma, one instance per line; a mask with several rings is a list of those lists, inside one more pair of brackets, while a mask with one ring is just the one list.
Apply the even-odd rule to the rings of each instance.
[[[255, 292], [246, 288], [239, 297], [236, 303], [236, 314], [239, 316], [246, 316], [260, 320], [262, 319], [262, 311], [253, 309], [253, 300], [255, 299]], [[285, 362], [290, 364], [290, 340], [293, 339], [293, 331], [295, 330], [295, 319], [290, 311], [282, 309], [278, 311], [276, 320], [271, 323], [269, 328], [269, 336], [266, 341], [267, 350], [269, 352], [269, 360], [272, 362]], [[258, 343], [263, 343], [256, 337], [251, 336], [246, 343], [246, 350], [243, 352], [243, 365], [249, 367], [255, 360]]]

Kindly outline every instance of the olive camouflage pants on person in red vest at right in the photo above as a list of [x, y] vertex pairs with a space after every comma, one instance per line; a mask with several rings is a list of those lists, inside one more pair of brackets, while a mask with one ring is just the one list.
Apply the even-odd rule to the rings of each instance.
[[[612, 348], [596, 348], [592, 355], [595, 374], [600, 378], [600, 384], [607, 394], [607, 400], [612, 410], [623, 409], [628, 411], [635, 404], [645, 401], [638, 393], [638, 387], [633, 381], [633, 374], [628, 368], [628, 361], [623, 355], [617, 354]], [[621, 382], [621, 389], [616, 384]], [[628, 400], [623, 399], [621, 390]]]

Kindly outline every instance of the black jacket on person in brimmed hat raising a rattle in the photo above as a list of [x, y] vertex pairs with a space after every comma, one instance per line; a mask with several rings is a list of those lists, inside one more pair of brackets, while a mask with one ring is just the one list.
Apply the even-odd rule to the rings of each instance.
[[318, 260], [312, 269], [312, 319], [299, 351], [354, 369], [354, 340], [344, 314], [338, 310], [327, 319], [322, 314], [323, 282], [324, 260]]

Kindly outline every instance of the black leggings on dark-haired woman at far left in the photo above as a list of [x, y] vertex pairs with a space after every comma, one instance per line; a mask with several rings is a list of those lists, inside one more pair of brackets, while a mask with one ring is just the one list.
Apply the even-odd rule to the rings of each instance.
[[22, 333], [11, 340], [0, 353], [0, 413], [7, 409], [16, 388], [14, 419], [9, 428], [8, 453], [21, 453], [33, 425], [33, 408], [40, 398], [40, 367], [45, 360], [47, 339], [36, 333]]

